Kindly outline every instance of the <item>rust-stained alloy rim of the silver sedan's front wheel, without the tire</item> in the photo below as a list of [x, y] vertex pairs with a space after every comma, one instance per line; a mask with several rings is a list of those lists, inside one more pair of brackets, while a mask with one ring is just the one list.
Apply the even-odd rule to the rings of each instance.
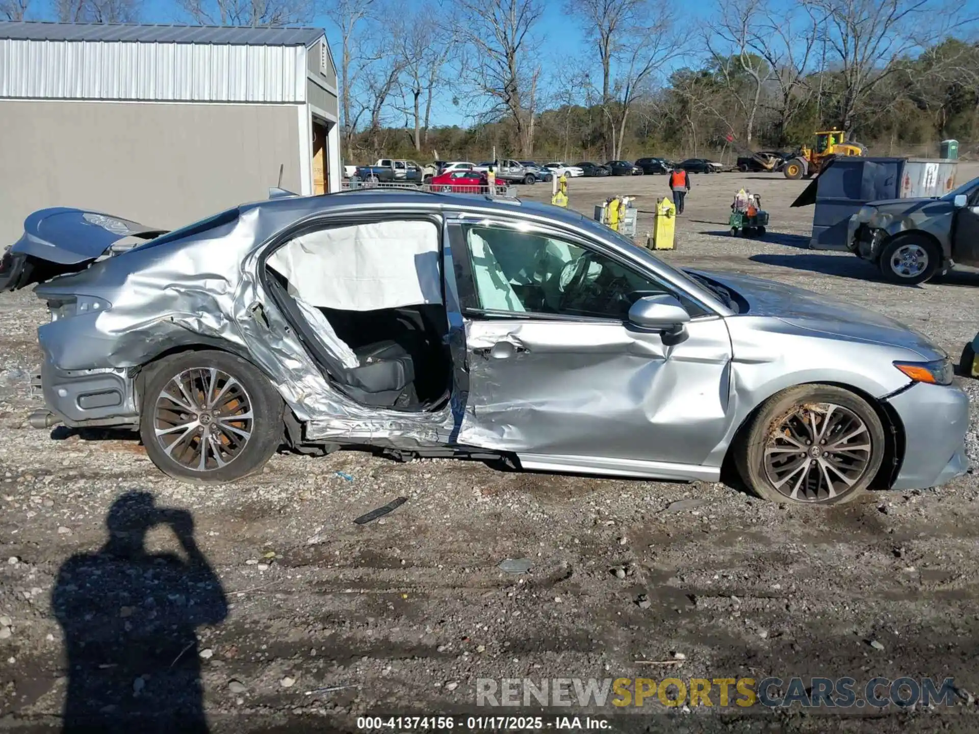
[[765, 473], [788, 499], [832, 500], [860, 482], [872, 451], [870, 432], [854, 411], [834, 403], [810, 403], [771, 424]]

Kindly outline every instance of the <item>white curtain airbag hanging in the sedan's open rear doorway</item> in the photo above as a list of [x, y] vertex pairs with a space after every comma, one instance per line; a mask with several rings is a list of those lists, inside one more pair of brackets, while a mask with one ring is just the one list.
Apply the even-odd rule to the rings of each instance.
[[389, 221], [297, 237], [268, 258], [310, 306], [372, 311], [442, 302], [434, 222]]

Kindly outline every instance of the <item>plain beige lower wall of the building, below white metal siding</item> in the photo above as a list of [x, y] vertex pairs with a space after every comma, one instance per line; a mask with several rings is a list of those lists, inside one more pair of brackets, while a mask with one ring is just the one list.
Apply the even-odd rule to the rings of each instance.
[[173, 228], [265, 199], [280, 164], [299, 191], [300, 110], [0, 100], [0, 251], [46, 206]]

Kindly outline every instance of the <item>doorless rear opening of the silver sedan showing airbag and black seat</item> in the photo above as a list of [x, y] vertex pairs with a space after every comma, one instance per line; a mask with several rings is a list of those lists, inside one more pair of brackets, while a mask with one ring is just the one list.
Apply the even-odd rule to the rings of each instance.
[[363, 405], [432, 410], [448, 396], [439, 241], [431, 220], [362, 223], [305, 233], [266, 260], [332, 384]]

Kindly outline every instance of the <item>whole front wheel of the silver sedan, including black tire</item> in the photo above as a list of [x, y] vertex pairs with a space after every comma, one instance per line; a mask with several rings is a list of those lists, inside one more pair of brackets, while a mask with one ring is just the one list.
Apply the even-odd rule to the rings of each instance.
[[[843, 450], [826, 450], [834, 439]], [[763, 499], [838, 505], [866, 490], [885, 451], [884, 427], [866, 400], [833, 385], [800, 385], [762, 403], [734, 448], [734, 462]]]

